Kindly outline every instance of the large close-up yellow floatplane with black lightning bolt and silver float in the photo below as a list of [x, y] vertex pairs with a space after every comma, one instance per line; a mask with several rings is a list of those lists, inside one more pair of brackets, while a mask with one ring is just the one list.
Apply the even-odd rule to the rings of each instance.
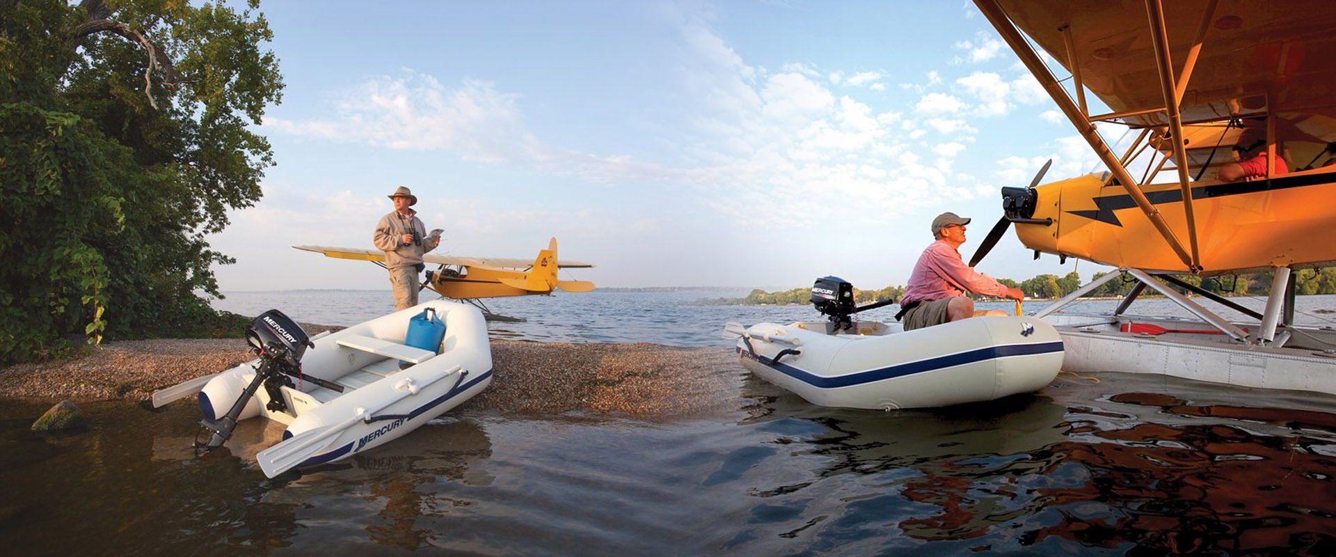
[[[1035, 256], [1118, 268], [1034, 314], [1058, 329], [1063, 369], [1336, 394], [1336, 331], [1295, 325], [1292, 281], [1336, 264], [1329, 3], [974, 1], [1106, 167], [1039, 186], [1046, 164], [1030, 187], [1002, 188], [1003, 216], [971, 260], [1014, 224]], [[1027, 37], [1069, 72], [1074, 99]], [[1092, 115], [1086, 91], [1112, 112]], [[1109, 123], [1138, 134], [1125, 152], [1096, 131]], [[1261, 175], [1238, 180], [1230, 151], [1260, 148], [1255, 138]], [[1273, 274], [1260, 313], [1176, 276], [1259, 271]], [[1136, 285], [1112, 314], [1062, 311], [1120, 276]], [[1128, 315], [1146, 291], [1196, 319]]]

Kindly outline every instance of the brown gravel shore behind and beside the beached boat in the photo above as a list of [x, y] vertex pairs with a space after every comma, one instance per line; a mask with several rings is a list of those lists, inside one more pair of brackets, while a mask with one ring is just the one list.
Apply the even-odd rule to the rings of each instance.
[[[307, 331], [330, 327], [305, 325]], [[0, 369], [0, 397], [147, 399], [250, 361], [242, 339], [107, 342], [86, 355]], [[736, 402], [744, 373], [728, 349], [492, 341], [494, 378], [468, 402], [508, 413], [700, 414]]]

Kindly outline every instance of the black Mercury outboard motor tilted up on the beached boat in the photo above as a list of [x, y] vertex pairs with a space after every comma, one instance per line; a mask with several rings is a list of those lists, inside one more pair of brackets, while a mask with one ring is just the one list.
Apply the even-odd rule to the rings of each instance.
[[289, 387], [293, 386], [293, 381], [289, 377], [302, 373], [302, 355], [306, 354], [307, 347], [315, 347], [315, 343], [306, 335], [306, 331], [295, 321], [278, 310], [265, 311], [251, 321], [251, 325], [246, 326], [246, 343], [259, 357], [259, 365], [255, 367], [255, 379], [251, 379], [246, 390], [242, 391], [240, 398], [232, 403], [226, 415], [200, 422], [206, 429], [214, 431], [207, 443], [198, 445], [204, 450], [216, 449], [232, 437], [232, 429], [236, 427], [236, 417], [242, 414], [242, 409], [255, 395], [261, 383], [265, 383], [265, 390], [269, 391], [270, 402], [267, 407], [273, 411], [287, 410], [287, 403], [283, 402], [283, 393], [279, 389], [285, 385]]

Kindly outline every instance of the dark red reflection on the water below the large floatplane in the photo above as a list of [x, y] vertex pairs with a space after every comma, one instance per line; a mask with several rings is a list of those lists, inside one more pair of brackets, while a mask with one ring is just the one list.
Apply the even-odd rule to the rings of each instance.
[[[1025, 544], [1059, 537], [1154, 554], [1336, 553], [1336, 415], [1149, 393], [1108, 401], [1128, 411], [1073, 409], [1078, 433], [1055, 450], [1085, 481], [1043, 490], [1062, 520], [1027, 532]], [[1164, 423], [1164, 415], [1197, 419]]]

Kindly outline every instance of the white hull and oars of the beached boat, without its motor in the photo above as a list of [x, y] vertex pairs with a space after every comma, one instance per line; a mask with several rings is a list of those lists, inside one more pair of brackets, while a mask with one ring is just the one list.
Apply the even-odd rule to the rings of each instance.
[[[350, 347], [358, 345], [354, 339], [371, 339], [389, 341], [393, 349], [403, 342], [409, 319], [426, 307], [434, 309], [446, 325], [438, 355], [399, 370], [398, 358]], [[492, 382], [486, 322], [481, 311], [462, 303], [432, 301], [313, 341], [315, 346], [302, 357], [302, 377], [291, 378], [291, 387], [279, 389], [286, 409], [271, 410], [271, 395], [261, 387], [238, 421], [262, 417], [286, 423], [286, 441], [306, 431], [339, 426], [359, 413], [369, 415], [322, 438], [322, 449], [294, 468], [339, 461], [394, 441], [481, 393]], [[258, 362], [219, 373], [204, 385], [199, 406], [206, 419], [227, 413], [255, 377]], [[454, 370], [456, 366], [461, 369]], [[343, 391], [318, 386], [311, 378], [337, 383]]]

